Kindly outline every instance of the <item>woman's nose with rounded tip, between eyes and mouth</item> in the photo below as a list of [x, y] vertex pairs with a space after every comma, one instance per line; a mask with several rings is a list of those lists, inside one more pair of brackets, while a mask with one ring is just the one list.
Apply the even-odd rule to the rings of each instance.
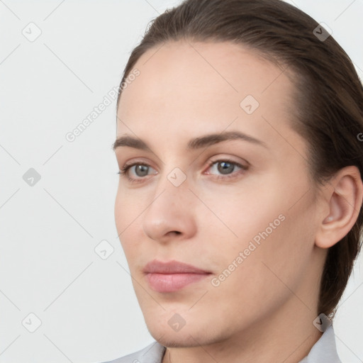
[[174, 186], [167, 177], [162, 178], [150, 206], [143, 213], [145, 234], [162, 243], [191, 238], [196, 234], [194, 201], [187, 179]]

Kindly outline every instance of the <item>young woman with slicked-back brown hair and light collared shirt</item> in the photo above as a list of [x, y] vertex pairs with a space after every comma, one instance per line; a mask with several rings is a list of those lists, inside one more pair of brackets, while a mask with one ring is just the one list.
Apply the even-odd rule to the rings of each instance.
[[279, 0], [186, 0], [117, 112], [116, 227], [156, 341], [113, 363], [340, 362], [363, 89], [329, 30]]

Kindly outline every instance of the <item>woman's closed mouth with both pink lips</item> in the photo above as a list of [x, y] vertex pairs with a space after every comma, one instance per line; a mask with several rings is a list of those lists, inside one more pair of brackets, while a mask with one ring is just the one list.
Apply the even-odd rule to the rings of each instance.
[[160, 293], [178, 291], [211, 275], [211, 272], [175, 260], [153, 260], [146, 264], [143, 272], [150, 288]]

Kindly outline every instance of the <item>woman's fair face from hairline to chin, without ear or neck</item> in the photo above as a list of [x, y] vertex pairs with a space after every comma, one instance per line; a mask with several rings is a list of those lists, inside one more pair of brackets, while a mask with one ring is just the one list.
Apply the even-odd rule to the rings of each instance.
[[[135, 68], [118, 107], [128, 170], [115, 218], [152, 336], [196, 346], [306, 306], [315, 317], [316, 199], [289, 78], [229, 43], [166, 43]], [[155, 259], [206, 273], [146, 274]]]

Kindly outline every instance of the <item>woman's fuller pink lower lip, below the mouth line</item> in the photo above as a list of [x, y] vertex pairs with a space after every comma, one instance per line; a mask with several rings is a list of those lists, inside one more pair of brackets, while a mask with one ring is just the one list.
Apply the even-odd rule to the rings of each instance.
[[147, 274], [151, 288], [158, 292], [173, 292], [205, 279], [210, 274]]

